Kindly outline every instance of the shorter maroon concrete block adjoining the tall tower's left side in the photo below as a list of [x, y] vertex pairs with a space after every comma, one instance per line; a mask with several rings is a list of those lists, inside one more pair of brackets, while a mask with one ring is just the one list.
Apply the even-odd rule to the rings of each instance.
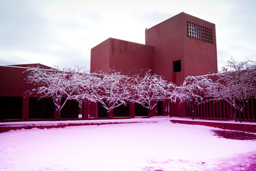
[[109, 38], [91, 50], [91, 72], [115, 69], [125, 75], [153, 69], [154, 47]]

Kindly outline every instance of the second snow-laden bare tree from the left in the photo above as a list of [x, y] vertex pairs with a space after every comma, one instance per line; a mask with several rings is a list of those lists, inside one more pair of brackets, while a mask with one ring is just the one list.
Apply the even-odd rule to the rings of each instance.
[[127, 104], [131, 87], [129, 79], [115, 70], [110, 70], [109, 73], [91, 73], [90, 78], [83, 81], [81, 96], [101, 103], [109, 113], [114, 108]]

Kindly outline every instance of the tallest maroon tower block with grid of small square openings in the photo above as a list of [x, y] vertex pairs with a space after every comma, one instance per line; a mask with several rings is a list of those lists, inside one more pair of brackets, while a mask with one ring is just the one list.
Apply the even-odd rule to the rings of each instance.
[[184, 12], [147, 29], [145, 44], [154, 47], [154, 73], [178, 85], [218, 71], [215, 25]]

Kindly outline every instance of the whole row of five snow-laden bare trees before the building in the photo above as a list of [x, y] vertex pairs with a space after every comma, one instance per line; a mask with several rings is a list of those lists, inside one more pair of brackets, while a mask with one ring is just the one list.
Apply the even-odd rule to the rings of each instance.
[[[157, 105], [157, 101], [170, 100], [187, 103], [193, 117], [195, 108], [205, 101], [226, 100], [241, 113], [250, 98], [256, 97], [256, 67], [250, 60], [236, 63], [228, 61], [219, 73], [198, 77], [186, 77], [182, 85], [167, 82], [150, 71], [128, 77], [110, 70], [108, 73], [88, 73], [76, 69], [45, 70], [29, 68], [28, 82], [36, 88], [42, 98], [51, 97], [60, 118], [61, 108], [67, 100], [88, 100], [99, 102], [109, 112], [120, 105], [139, 103], [148, 108], [148, 112]], [[65, 98], [64, 103], [61, 99]]]

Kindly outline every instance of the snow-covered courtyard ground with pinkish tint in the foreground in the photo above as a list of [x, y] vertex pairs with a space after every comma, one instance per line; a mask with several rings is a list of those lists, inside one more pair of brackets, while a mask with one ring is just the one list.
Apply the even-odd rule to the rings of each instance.
[[0, 133], [0, 170], [256, 170], [256, 140], [150, 121]]

